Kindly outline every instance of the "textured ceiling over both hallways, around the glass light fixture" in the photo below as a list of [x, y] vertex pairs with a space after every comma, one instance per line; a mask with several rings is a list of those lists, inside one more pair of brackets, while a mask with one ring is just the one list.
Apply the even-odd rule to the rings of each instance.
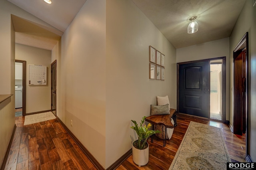
[[[86, 0], [52, 0], [52, 4], [47, 4], [43, 0], [8, 1], [62, 32], [86, 2]], [[181, 48], [229, 37], [246, 0], [132, 1], [175, 48]], [[199, 25], [198, 32], [194, 34], [187, 33], [191, 16], [197, 16], [196, 21]]]

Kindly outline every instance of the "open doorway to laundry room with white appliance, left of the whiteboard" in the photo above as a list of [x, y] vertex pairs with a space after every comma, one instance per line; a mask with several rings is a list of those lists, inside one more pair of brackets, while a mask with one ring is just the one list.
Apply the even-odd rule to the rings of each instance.
[[[15, 113], [15, 114], [17, 116], [21, 116], [21, 115], [26, 116], [26, 61], [16, 59], [15, 63], [19, 63], [18, 65], [21, 66], [21, 70], [18, 71], [20, 73], [18, 73], [17, 70], [15, 71], [15, 77], [17, 77], [17, 79], [15, 78], [15, 85], [20, 85], [18, 87], [20, 88], [18, 93], [22, 93], [22, 95], [20, 96], [22, 98], [21, 99], [22, 107], [20, 108], [20, 106], [17, 106], [19, 108], [17, 112], [21, 112], [21, 113]], [[16, 94], [16, 91], [15, 91], [15, 94]]]

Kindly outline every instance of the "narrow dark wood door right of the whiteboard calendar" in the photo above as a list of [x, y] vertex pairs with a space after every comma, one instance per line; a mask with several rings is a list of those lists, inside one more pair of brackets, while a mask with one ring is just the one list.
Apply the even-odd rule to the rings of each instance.
[[54, 115], [56, 115], [56, 60], [52, 63], [52, 68], [51, 68], [51, 77], [52, 77], [52, 80], [51, 80], [51, 110], [52, 110], [52, 113], [54, 113]]

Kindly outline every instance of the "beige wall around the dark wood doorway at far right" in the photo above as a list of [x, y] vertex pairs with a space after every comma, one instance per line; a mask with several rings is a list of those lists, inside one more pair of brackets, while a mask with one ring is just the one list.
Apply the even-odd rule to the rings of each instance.
[[[246, 0], [244, 8], [230, 35], [230, 86], [233, 87], [233, 49], [244, 34], [249, 35], [249, 152], [252, 162], [256, 162], [256, 6], [253, 0]], [[233, 125], [233, 93], [230, 93], [230, 120]]]

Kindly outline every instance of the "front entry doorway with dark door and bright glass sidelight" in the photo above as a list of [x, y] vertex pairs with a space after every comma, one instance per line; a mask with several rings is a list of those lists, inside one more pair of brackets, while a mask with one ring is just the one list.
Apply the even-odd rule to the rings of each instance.
[[[216, 103], [216, 107], [212, 108], [220, 114], [218, 119], [211, 117], [210, 114], [211, 63], [212, 65], [219, 64], [216, 71], [218, 76], [216, 76], [214, 83], [219, 83], [219, 86], [216, 85], [215, 91], [216, 94], [220, 93], [216, 97], [220, 103]], [[227, 124], [226, 57], [177, 63], [177, 73], [177, 112], [215, 119]]]

